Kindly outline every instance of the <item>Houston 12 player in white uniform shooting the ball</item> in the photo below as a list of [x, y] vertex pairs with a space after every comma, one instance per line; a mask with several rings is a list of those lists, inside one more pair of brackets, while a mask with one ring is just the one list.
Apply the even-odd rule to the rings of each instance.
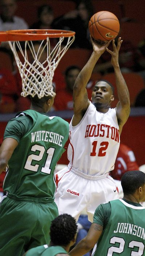
[[[117, 199], [115, 182], [108, 175], [113, 170], [119, 150], [120, 134], [130, 113], [129, 92], [119, 67], [119, 49], [112, 41], [113, 52], [105, 45], [92, 40], [93, 53], [76, 78], [73, 88], [74, 116], [70, 122], [70, 144], [67, 155], [69, 165], [56, 174], [55, 202], [59, 214], [72, 214], [76, 220], [85, 209], [92, 222], [100, 203]], [[116, 76], [119, 102], [111, 109], [114, 100], [113, 86], [98, 81], [93, 88], [92, 102], [88, 100], [86, 85], [99, 57], [107, 50]]]

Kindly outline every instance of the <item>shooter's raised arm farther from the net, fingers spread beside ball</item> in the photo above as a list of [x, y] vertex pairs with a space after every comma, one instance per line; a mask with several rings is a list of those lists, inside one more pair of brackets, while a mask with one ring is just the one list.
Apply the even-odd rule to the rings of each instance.
[[127, 121], [130, 113], [129, 91], [119, 67], [119, 50], [120, 50], [122, 41], [123, 40], [121, 40], [121, 37], [119, 37], [117, 46], [115, 45], [115, 41], [114, 40], [112, 41], [113, 52], [108, 48], [106, 49], [107, 52], [109, 52], [112, 56], [111, 63], [113, 65], [115, 78], [116, 78], [117, 94], [119, 98], [119, 102], [117, 103], [117, 106], [116, 106], [116, 115], [118, 119], [120, 134], [122, 131], [122, 127]]

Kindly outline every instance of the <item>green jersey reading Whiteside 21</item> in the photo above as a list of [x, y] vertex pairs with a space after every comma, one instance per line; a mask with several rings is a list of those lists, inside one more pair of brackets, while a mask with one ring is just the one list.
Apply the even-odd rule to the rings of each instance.
[[[11, 121], [17, 125], [17, 119], [22, 119], [22, 115], [28, 116], [31, 125], [25, 129], [26, 133], [8, 162], [3, 189], [21, 197], [54, 198], [54, 170], [65, 151], [69, 123], [34, 110], [26, 110]], [[7, 137], [11, 137], [11, 133], [4, 138]]]

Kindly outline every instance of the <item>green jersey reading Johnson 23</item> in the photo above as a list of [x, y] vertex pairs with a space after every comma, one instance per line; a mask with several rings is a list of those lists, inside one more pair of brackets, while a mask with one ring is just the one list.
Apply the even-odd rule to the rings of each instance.
[[145, 256], [145, 208], [110, 201], [111, 215], [93, 256]]

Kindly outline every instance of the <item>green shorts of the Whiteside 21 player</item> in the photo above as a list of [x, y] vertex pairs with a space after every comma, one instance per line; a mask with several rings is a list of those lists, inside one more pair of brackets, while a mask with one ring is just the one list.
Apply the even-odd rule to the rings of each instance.
[[48, 244], [50, 224], [57, 216], [53, 199], [4, 198], [0, 205], [0, 255], [22, 256], [30, 248]]

